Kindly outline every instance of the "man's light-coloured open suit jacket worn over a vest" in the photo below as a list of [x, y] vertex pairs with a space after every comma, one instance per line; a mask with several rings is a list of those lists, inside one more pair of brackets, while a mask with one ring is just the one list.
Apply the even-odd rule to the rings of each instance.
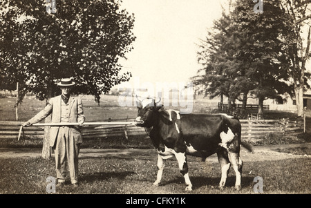
[[[57, 97], [53, 97], [50, 99], [46, 107], [37, 113], [34, 117], [32, 117], [28, 122], [30, 124], [35, 124], [37, 122], [40, 122], [41, 120], [44, 120], [50, 113], [52, 113], [52, 123], [59, 123], [61, 122], [61, 102], [62, 102], [62, 95], [59, 95]], [[69, 104], [69, 122], [84, 122], [85, 117], [83, 113], [83, 107], [82, 107], [82, 100], [79, 97], [69, 97], [68, 100]], [[73, 138], [77, 143], [82, 143], [82, 133], [79, 130], [79, 126], [71, 126], [70, 128], [71, 135], [73, 135]], [[60, 126], [50, 126], [50, 146], [54, 146], [55, 140], [57, 138], [57, 133], [59, 131], [59, 128], [62, 128]]]

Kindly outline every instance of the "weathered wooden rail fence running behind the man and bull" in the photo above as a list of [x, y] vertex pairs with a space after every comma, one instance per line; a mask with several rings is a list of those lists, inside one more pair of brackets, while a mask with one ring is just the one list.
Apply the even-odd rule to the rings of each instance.
[[[124, 120], [122, 120], [124, 121]], [[281, 133], [283, 135], [298, 135], [305, 132], [305, 119], [281, 120], [240, 120], [243, 139], [252, 140], [261, 138], [268, 133]], [[0, 122], [0, 139], [16, 139], [19, 136], [21, 122]], [[109, 126], [84, 126], [82, 136], [88, 138], [128, 138], [133, 135], [147, 135], [144, 128], [135, 125], [109, 125]], [[43, 126], [28, 126], [23, 128], [21, 138], [43, 138]]]

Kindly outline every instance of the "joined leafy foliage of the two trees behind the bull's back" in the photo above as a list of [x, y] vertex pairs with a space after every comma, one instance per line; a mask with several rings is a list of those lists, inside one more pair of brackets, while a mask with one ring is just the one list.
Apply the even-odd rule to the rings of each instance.
[[290, 79], [290, 59], [283, 41], [289, 24], [279, 4], [265, 2], [265, 11], [256, 14], [252, 1], [236, 1], [234, 10], [214, 22], [214, 33], [209, 32], [198, 53], [205, 75], [197, 84], [205, 84], [207, 94], [234, 101], [250, 93], [259, 105], [292, 94], [285, 82]]

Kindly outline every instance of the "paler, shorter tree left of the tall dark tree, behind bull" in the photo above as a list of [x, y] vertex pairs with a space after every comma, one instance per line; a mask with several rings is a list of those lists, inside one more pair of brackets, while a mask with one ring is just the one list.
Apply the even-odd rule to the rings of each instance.
[[[247, 95], [252, 84], [245, 79], [245, 67], [236, 59], [236, 50], [241, 47], [241, 35], [237, 32], [232, 13], [223, 12], [223, 17], [214, 21], [212, 32], [201, 41], [198, 61], [205, 70], [205, 75], [196, 79], [196, 84], [205, 86], [205, 95], [210, 98], [223, 95], [228, 97], [231, 108], [241, 93]], [[243, 96], [243, 107], [246, 107]], [[223, 99], [221, 99], [223, 100]], [[240, 99], [241, 100], [241, 99]]]

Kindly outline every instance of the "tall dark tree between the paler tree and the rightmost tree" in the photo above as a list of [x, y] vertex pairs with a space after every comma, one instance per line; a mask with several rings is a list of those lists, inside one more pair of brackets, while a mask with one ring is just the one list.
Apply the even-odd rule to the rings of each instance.
[[237, 57], [245, 66], [245, 75], [252, 80], [254, 88], [250, 93], [258, 98], [258, 117], [263, 116], [263, 101], [282, 99], [281, 95], [291, 93], [287, 68], [289, 59], [282, 41], [288, 30], [280, 1], [265, 1], [264, 11], [255, 14], [253, 3], [247, 0], [237, 2], [238, 30], [244, 33]]

